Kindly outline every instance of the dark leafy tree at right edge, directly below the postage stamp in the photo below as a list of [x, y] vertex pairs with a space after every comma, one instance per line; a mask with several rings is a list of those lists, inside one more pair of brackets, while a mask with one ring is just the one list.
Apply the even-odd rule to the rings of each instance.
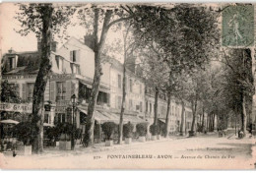
[[223, 50], [223, 57], [218, 61], [223, 63], [224, 84], [223, 93], [227, 95], [226, 106], [241, 118], [241, 131], [246, 134], [247, 114], [251, 112], [252, 96], [254, 94], [252, 74], [252, 53], [250, 49]]

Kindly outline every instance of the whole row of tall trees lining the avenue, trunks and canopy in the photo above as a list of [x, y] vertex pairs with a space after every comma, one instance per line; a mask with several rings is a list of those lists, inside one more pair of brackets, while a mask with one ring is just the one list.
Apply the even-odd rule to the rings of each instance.
[[[216, 87], [219, 86], [218, 82], [212, 82], [213, 79], [211, 78], [211, 76], [215, 76], [218, 70], [213, 72], [209, 68], [210, 61], [218, 57], [216, 53], [220, 50], [220, 30], [218, 28], [220, 13], [215, 9], [188, 4], [177, 4], [168, 8], [141, 5], [105, 7], [94, 4], [78, 4], [77, 6], [19, 4], [19, 6], [21, 11], [17, 14], [17, 19], [23, 27], [19, 32], [26, 35], [33, 31], [41, 38], [42, 43], [40, 68], [32, 99], [32, 129], [35, 133], [33, 137], [34, 152], [42, 151], [43, 93], [50, 73], [50, 42], [54, 35], [62, 36], [61, 33], [65, 35], [65, 30], [71, 23], [70, 17], [78, 17], [79, 25], [92, 30], [90, 34], [94, 38], [95, 77], [86, 120], [86, 136], [84, 139], [86, 145], [94, 144], [94, 111], [102, 75], [102, 52], [106, 46], [107, 32], [113, 27], [124, 30], [123, 46], [121, 48], [124, 68], [119, 143], [122, 140], [122, 122], [125, 110], [126, 67], [129, 65], [128, 60], [132, 57], [140, 58], [137, 62], [143, 65], [141, 75], [145, 78], [147, 84], [154, 87], [156, 92], [154, 125], [158, 124], [159, 94], [164, 92], [168, 96], [165, 136], [168, 135], [167, 123], [171, 96], [178, 98], [182, 104], [181, 125], [184, 125], [184, 103], [185, 101], [191, 103], [193, 112], [192, 135], [195, 131], [199, 101], [203, 111], [206, 110], [208, 113], [218, 116], [224, 113], [224, 109], [220, 110], [222, 108], [220, 107], [221, 100], [218, 98], [218, 96], [223, 96], [222, 92], [224, 90], [220, 91], [223, 86]], [[120, 25], [122, 22], [123, 25]], [[242, 52], [247, 55], [246, 51]], [[247, 59], [244, 56], [243, 61], [245, 60]], [[247, 75], [242, 73], [242, 77], [245, 76]], [[219, 76], [216, 79], [220, 81]], [[246, 83], [248, 83], [247, 80]], [[229, 85], [229, 83], [227, 84]], [[242, 101], [246, 100], [246, 89], [242, 89]], [[221, 97], [221, 99], [224, 98]], [[245, 110], [248, 105], [246, 106], [246, 102], [242, 103], [243, 121], [246, 122]], [[181, 126], [180, 132], [183, 132], [183, 126]]]

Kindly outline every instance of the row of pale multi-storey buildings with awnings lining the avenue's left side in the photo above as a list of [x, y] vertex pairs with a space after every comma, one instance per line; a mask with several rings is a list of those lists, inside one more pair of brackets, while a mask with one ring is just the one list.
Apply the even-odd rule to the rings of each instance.
[[[76, 123], [78, 128], [85, 130], [85, 118], [89, 103], [90, 92], [93, 87], [95, 73], [95, 53], [92, 39], [85, 36], [81, 41], [71, 37], [59, 49], [57, 43], [52, 42], [50, 64], [51, 70], [44, 92], [45, 103], [50, 103], [51, 109], [44, 110], [44, 123], [54, 125], [62, 122]], [[2, 80], [8, 81], [17, 95], [20, 103], [1, 102], [1, 119], [6, 119], [8, 113], [18, 121], [26, 121], [32, 113], [32, 92], [35, 78], [39, 70], [40, 42], [38, 50], [34, 52], [15, 52], [10, 50], [2, 58]], [[105, 57], [102, 64], [102, 76], [96, 101], [96, 124], [106, 121], [119, 123], [123, 92], [123, 64], [117, 60]], [[146, 87], [144, 80], [136, 75], [136, 68], [126, 69], [126, 100], [124, 123], [134, 124], [154, 122], [155, 93], [151, 87]], [[77, 96], [76, 109], [73, 110], [71, 96]], [[160, 93], [158, 119], [165, 124], [167, 112], [167, 97]], [[3, 112], [2, 112], [3, 113]], [[178, 133], [181, 126], [182, 105], [171, 97], [169, 112], [169, 131]], [[192, 125], [192, 111], [189, 103], [185, 103], [184, 132], [188, 132]], [[196, 128], [195, 128], [196, 129]]]

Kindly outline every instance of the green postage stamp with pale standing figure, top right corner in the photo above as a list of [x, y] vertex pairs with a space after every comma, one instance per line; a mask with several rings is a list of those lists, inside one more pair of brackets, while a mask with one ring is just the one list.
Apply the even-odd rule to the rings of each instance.
[[250, 47], [254, 45], [254, 6], [223, 7], [223, 46]]

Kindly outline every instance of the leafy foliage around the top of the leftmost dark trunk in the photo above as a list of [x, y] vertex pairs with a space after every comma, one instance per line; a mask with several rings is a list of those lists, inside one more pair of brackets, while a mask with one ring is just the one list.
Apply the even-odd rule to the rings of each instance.
[[66, 29], [71, 25], [70, 18], [76, 12], [75, 6], [61, 5], [61, 4], [44, 4], [44, 3], [30, 3], [30, 4], [17, 4], [20, 11], [17, 12], [17, 19], [22, 29], [17, 30], [22, 35], [27, 35], [31, 31], [36, 34], [37, 38], [41, 37], [42, 30], [42, 17], [44, 8], [51, 6], [52, 12], [52, 30], [58, 37], [66, 37]]

